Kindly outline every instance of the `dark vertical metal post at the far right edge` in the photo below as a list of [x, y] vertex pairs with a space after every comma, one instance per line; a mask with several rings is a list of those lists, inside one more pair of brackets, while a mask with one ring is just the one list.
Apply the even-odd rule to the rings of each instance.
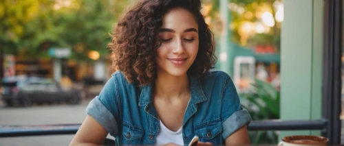
[[323, 118], [328, 121], [325, 136], [329, 145], [341, 144], [342, 4], [341, 0], [325, 1], [322, 106]]

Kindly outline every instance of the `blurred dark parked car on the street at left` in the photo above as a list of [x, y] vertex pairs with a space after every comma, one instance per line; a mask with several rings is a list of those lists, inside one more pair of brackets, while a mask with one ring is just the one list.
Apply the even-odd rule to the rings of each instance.
[[67, 101], [69, 104], [80, 102], [80, 90], [64, 90], [58, 82], [44, 77], [12, 77], [4, 78], [2, 85], [2, 100], [12, 106], [19, 103], [22, 106], [31, 106], [32, 103], [52, 103]]

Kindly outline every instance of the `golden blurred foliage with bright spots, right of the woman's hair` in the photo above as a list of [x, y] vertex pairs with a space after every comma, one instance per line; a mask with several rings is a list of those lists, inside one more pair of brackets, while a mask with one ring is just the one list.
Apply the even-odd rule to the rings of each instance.
[[[230, 0], [228, 8], [230, 9], [230, 25], [228, 29], [231, 29], [231, 39], [241, 45], [275, 45], [279, 47], [280, 27], [281, 23], [275, 20], [275, 1], [280, 0]], [[211, 18], [209, 25], [215, 33], [215, 38], [219, 38], [219, 34], [222, 31], [222, 23], [219, 14], [219, 1], [206, 0], [204, 1], [206, 7], [210, 7], [209, 12], [205, 15]], [[209, 6], [210, 5], [210, 6]], [[261, 22], [261, 16], [264, 12], [269, 12], [274, 16], [273, 27], [268, 27]], [[255, 27], [259, 25], [264, 26], [264, 29], [268, 29], [264, 32], [257, 33]]]

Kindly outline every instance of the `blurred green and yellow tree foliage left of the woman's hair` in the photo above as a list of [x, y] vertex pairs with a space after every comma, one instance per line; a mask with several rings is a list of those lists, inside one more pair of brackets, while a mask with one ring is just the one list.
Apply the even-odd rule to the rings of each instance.
[[[109, 32], [129, 1], [3, 0], [0, 3], [0, 49], [20, 58], [45, 57], [51, 47], [72, 50], [88, 60], [88, 51], [108, 56]], [[30, 57], [29, 57], [30, 56]]]

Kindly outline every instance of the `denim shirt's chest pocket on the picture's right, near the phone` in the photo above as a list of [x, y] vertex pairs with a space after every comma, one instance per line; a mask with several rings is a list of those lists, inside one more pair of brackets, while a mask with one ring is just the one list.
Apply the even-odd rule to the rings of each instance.
[[221, 133], [221, 120], [208, 121], [195, 126], [195, 134], [200, 138], [200, 141], [210, 142], [213, 145], [222, 144]]

